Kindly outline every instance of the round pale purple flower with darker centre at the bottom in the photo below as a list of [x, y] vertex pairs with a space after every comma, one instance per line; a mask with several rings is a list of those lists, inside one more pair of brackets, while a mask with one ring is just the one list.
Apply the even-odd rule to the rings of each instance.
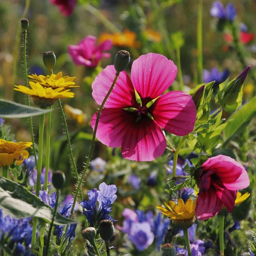
[[128, 235], [135, 247], [142, 251], [147, 249], [154, 241], [154, 234], [148, 222], [133, 222]]

